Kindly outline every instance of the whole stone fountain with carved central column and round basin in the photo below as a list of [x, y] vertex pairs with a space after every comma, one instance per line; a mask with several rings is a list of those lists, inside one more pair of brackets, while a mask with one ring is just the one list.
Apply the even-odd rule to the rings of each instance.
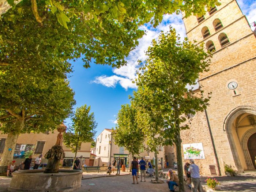
[[59, 170], [60, 160], [65, 157], [62, 133], [66, 128], [62, 123], [57, 129], [59, 134], [56, 144], [45, 154], [45, 158], [48, 159], [46, 169], [14, 172], [8, 191], [64, 192], [81, 187], [82, 171]]

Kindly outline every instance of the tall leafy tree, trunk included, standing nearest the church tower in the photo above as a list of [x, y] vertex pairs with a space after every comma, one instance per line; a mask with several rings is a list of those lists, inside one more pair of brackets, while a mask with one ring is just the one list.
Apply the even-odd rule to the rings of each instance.
[[[203, 98], [199, 88], [197, 94], [192, 88], [199, 73], [207, 71], [209, 55], [204, 52], [203, 44], [195, 45], [187, 38], [180, 42], [176, 31], [161, 33], [158, 40], [153, 40], [147, 50], [144, 71], [138, 74], [136, 83], [143, 87], [141, 102], [147, 103], [153, 111], [161, 113], [168, 127], [166, 136], [176, 144], [178, 169], [182, 170], [180, 130], [189, 128], [187, 114], [203, 111], [209, 97]], [[151, 95], [148, 97], [147, 95]], [[183, 173], [178, 172], [179, 190], [184, 192]]]

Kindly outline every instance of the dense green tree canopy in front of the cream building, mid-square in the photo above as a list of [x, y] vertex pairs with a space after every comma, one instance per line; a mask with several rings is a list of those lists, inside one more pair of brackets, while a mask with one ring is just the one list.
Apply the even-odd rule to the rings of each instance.
[[117, 114], [116, 129], [112, 132], [114, 143], [129, 153], [139, 154], [143, 147], [144, 135], [136, 122], [136, 110], [129, 104], [121, 105]]

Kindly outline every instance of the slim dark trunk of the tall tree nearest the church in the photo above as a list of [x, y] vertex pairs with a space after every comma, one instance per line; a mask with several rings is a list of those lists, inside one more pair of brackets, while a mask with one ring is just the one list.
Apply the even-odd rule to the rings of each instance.
[[185, 192], [184, 188], [184, 178], [183, 178], [183, 166], [182, 166], [182, 154], [181, 154], [181, 138], [180, 138], [180, 128], [177, 129], [176, 135], [176, 153], [177, 153], [177, 170], [179, 178], [179, 192]]

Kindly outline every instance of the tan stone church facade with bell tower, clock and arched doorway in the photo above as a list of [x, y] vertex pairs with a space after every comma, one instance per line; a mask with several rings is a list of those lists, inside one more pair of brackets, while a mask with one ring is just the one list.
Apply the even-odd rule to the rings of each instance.
[[183, 20], [188, 39], [212, 52], [210, 70], [198, 80], [212, 94], [207, 110], [181, 132], [182, 144], [202, 143], [204, 158], [195, 159], [201, 174], [225, 175], [225, 164], [256, 169], [256, 37], [236, 0]]

